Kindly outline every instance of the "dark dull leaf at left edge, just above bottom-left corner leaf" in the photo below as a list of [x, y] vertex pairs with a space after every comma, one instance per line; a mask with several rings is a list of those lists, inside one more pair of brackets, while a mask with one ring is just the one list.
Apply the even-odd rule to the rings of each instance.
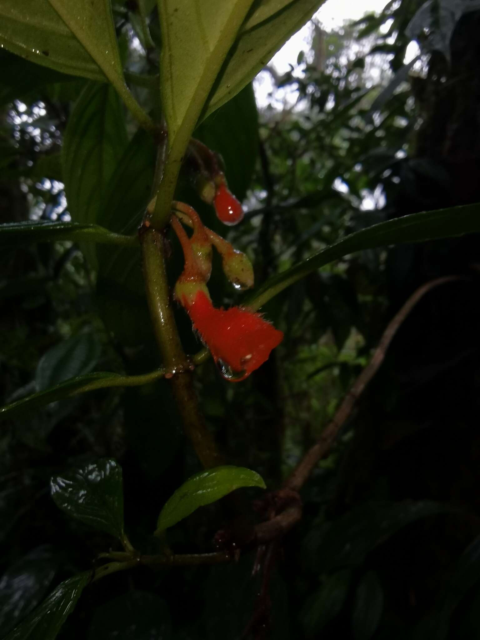
[[44, 598], [57, 561], [51, 547], [37, 547], [11, 564], [0, 579], [0, 629], [6, 634]]

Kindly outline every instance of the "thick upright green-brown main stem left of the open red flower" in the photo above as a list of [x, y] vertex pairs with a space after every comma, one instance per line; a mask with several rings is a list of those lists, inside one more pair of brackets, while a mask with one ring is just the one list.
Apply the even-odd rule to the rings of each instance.
[[193, 364], [184, 353], [173, 317], [164, 260], [163, 236], [153, 228], [147, 228], [141, 234], [141, 246], [148, 306], [166, 377], [170, 378], [184, 429], [195, 448], [198, 459], [204, 467], [216, 467], [221, 463], [222, 458], [200, 412], [193, 388], [191, 374]]

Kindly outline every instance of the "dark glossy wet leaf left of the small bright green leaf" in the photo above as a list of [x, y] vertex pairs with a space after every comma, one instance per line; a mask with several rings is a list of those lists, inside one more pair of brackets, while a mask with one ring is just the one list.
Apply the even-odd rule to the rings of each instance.
[[51, 479], [56, 506], [116, 538], [124, 536], [122, 467], [111, 458], [74, 468]]

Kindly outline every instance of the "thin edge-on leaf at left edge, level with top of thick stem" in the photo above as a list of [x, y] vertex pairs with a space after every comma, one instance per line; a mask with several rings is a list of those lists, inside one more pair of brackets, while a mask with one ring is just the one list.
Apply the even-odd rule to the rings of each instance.
[[135, 246], [136, 239], [112, 233], [100, 225], [78, 222], [12, 222], [0, 225], [0, 246], [60, 240], [94, 241]]

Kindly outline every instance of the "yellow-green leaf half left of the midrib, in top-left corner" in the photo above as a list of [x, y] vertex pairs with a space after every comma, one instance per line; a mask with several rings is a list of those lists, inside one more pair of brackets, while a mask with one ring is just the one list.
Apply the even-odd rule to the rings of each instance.
[[[77, 6], [77, 2], [70, 4]], [[2, 0], [0, 45], [56, 71], [105, 80], [97, 62], [48, 0]]]

